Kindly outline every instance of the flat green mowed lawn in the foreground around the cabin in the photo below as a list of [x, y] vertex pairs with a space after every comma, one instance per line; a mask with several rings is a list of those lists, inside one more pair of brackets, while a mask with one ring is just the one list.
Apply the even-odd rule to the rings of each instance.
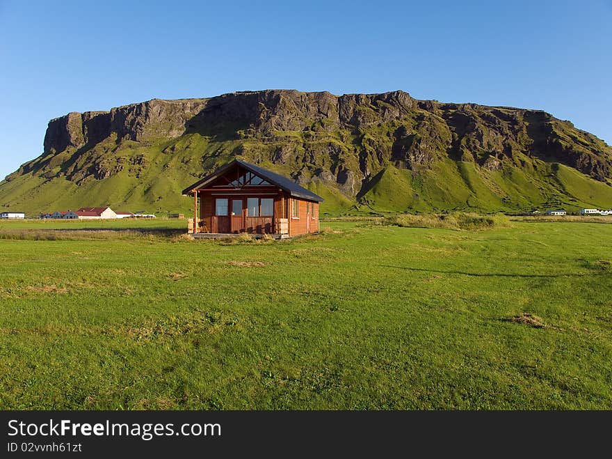
[[612, 409], [612, 225], [324, 226], [0, 240], [0, 408]]

